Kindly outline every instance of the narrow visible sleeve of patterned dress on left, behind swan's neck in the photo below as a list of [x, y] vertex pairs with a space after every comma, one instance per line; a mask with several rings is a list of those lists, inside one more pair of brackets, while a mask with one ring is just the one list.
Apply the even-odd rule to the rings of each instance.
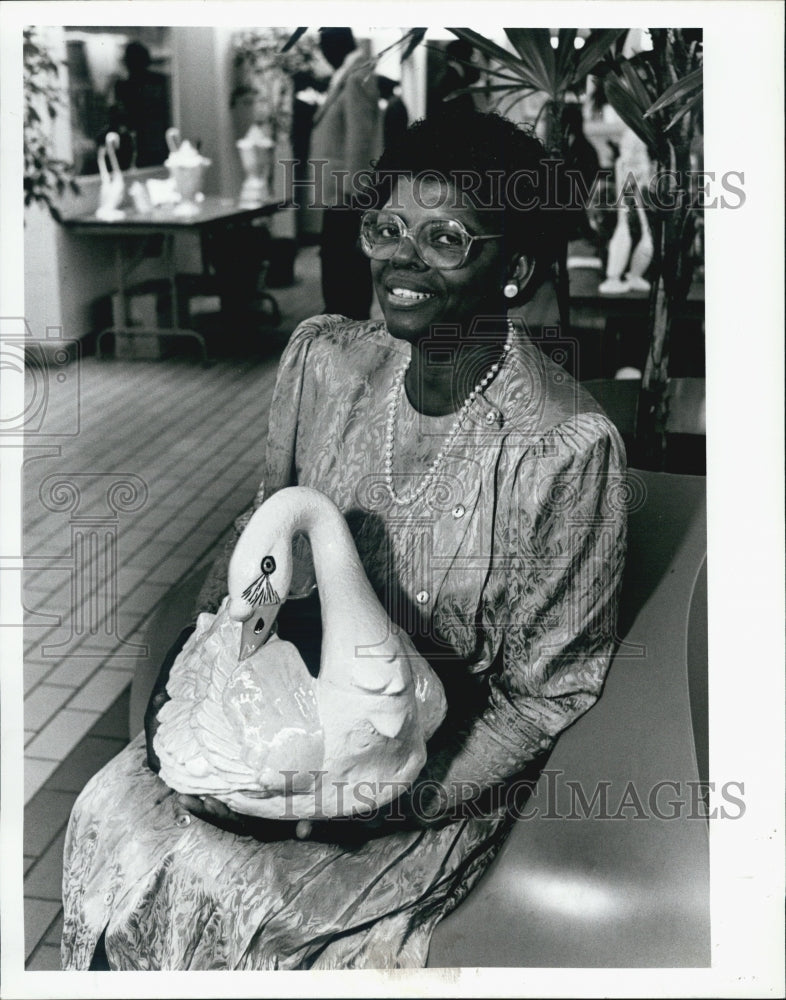
[[270, 404], [267, 447], [262, 479], [252, 505], [243, 511], [226, 532], [218, 556], [199, 592], [194, 620], [202, 611], [215, 614], [227, 592], [229, 560], [243, 529], [266, 497], [294, 484], [295, 444], [303, 389], [303, 378], [314, 337], [319, 333], [319, 317], [297, 327], [284, 349], [276, 373]]

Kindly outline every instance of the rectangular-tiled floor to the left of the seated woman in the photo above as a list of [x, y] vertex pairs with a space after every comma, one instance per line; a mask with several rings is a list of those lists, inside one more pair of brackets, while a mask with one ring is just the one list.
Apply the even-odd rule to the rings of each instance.
[[319, 311], [315, 249], [301, 251], [296, 276], [294, 286], [275, 293], [281, 326], [265, 331], [255, 352], [219, 357], [208, 370], [185, 353], [155, 361], [85, 358], [68, 368], [78, 426], [73, 394], [52, 393], [46, 426], [54, 433], [30, 439], [28, 969], [59, 968], [65, 827], [85, 782], [128, 741], [129, 689], [145, 623], [172, 586], [211, 557], [253, 497], [280, 348], [300, 319]]

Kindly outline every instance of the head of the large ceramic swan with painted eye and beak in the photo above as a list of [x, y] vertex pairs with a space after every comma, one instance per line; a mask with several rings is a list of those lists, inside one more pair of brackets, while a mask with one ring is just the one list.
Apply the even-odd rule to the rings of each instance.
[[241, 659], [270, 635], [292, 582], [292, 532], [261, 507], [246, 525], [229, 562], [228, 612], [244, 624]]

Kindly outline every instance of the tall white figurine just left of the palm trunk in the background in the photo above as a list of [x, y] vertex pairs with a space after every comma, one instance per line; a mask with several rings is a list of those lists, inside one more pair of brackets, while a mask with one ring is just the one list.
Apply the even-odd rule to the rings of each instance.
[[[650, 283], [644, 274], [652, 261], [653, 243], [641, 191], [648, 186], [651, 176], [652, 165], [644, 143], [630, 129], [626, 129], [615, 165], [617, 225], [609, 241], [606, 280], [598, 286], [601, 295], [648, 292], [650, 289]], [[635, 247], [630, 231], [631, 209], [626, 204], [626, 199], [622, 197], [623, 191], [629, 192], [633, 198], [634, 210], [641, 229], [641, 236]]]

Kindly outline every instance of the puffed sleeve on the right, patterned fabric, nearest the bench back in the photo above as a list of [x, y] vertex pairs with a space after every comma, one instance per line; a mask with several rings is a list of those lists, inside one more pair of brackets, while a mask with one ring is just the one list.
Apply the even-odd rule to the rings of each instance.
[[626, 533], [616, 430], [599, 414], [558, 426], [523, 454], [499, 500], [496, 669], [474, 718], [442, 727], [413, 788], [427, 819], [550, 750], [597, 700], [614, 650]]

